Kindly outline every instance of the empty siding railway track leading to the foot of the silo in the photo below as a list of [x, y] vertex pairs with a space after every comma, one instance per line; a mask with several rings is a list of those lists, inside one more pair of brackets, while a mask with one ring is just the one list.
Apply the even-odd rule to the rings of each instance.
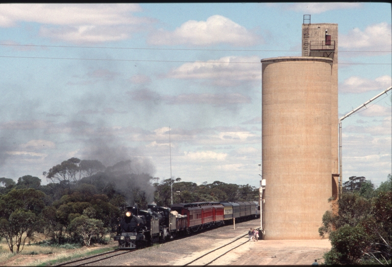
[[[257, 228], [256, 230], [258, 230]], [[244, 240], [245, 238], [245, 240]], [[215, 248], [207, 253], [204, 253], [203, 255], [197, 257], [196, 259], [192, 260], [191, 262], [188, 262], [182, 266], [207, 266], [213, 263], [214, 261], [218, 260], [222, 256], [226, 255], [227, 253], [233, 251], [237, 247], [240, 247], [244, 244], [246, 244], [248, 241], [248, 234], [245, 234], [243, 236], [240, 236], [236, 238], [235, 240], [232, 240], [230, 243], [222, 245], [218, 248]]]

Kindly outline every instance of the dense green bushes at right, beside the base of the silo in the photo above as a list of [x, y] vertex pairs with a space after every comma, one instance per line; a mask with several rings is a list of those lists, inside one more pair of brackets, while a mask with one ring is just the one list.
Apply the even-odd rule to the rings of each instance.
[[[391, 262], [392, 190], [387, 184], [374, 190], [366, 179], [352, 184], [338, 200], [337, 214], [327, 211], [319, 228], [329, 234], [332, 249], [325, 253], [326, 264], [380, 264]], [[385, 190], [385, 191], [384, 191]]]

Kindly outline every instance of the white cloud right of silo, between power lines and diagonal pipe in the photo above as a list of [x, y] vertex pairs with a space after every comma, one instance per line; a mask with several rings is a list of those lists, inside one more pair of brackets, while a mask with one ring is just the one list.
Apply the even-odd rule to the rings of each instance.
[[392, 77], [384, 75], [375, 80], [361, 78], [359, 76], [352, 76], [343, 81], [339, 86], [339, 91], [342, 93], [364, 93], [374, 90], [385, 90], [392, 85]]

